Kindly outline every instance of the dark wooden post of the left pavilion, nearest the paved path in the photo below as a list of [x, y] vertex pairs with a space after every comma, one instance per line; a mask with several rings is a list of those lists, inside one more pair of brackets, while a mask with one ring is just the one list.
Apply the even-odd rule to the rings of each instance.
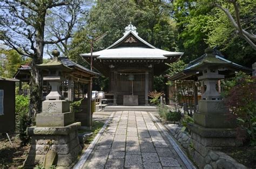
[[85, 126], [92, 126], [92, 113], [91, 113], [91, 101], [92, 101], [92, 78], [90, 78], [89, 84], [87, 84], [87, 112], [86, 112], [86, 124]]

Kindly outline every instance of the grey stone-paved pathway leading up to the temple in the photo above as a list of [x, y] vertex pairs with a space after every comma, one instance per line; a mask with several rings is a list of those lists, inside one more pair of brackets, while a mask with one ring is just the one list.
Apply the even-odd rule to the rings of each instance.
[[147, 112], [120, 111], [83, 168], [186, 168]]

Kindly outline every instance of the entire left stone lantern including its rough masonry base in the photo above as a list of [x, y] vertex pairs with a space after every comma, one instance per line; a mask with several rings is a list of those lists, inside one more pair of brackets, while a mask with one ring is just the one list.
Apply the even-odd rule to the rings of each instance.
[[50, 159], [56, 159], [53, 165], [70, 167], [82, 150], [77, 134], [80, 122], [75, 123], [70, 103], [64, 100], [59, 91], [59, 86], [66, 80], [64, 75], [72, 72], [72, 69], [58, 60], [57, 50], [53, 50], [52, 55], [54, 57], [50, 62], [37, 65], [38, 69], [47, 72], [43, 79], [50, 83], [51, 92], [43, 101], [42, 113], [36, 116], [36, 126], [28, 128], [32, 141], [25, 167], [36, 164], [47, 167], [49, 161], [44, 159], [49, 159], [49, 152], [52, 156]]

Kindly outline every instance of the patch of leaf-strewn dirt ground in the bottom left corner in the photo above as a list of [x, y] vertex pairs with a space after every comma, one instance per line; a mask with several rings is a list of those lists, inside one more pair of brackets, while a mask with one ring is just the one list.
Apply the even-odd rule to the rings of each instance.
[[16, 133], [9, 133], [12, 145], [5, 133], [0, 134], [0, 168], [19, 168], [28, 154], [30, 146], [20, 146]]

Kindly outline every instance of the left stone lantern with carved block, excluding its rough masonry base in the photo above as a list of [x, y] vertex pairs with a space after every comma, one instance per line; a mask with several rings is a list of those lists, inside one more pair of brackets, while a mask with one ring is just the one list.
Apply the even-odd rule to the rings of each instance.
[[59, 87], [64, 80], [65, 73], [72, 69], [65, 66], [58, 60], [59, 51], [52, 51], [53, 59], [48, 63], [37, 65], [38, 69], [48, 72], [43, 80], [48, 81], [51, 85], [51, 92], [45, 97], [43, 102], [42, 113], [36, 118], [37, 126], [65, 126], [73, 123], [74, 115], [70, 112], [70, 103], [63, 100], [64, 97], [59, 91]]

